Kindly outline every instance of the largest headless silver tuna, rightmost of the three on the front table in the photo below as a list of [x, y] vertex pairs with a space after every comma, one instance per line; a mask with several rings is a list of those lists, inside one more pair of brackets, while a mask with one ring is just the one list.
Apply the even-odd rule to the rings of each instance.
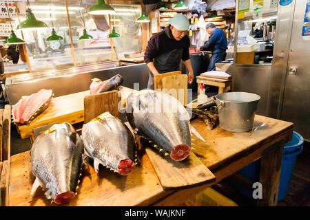
[[126, 117], [138, 135], [146, 137], [176, 161], [192, 151], [189, 113], [176, 98], [142, 90], [127, 98]]

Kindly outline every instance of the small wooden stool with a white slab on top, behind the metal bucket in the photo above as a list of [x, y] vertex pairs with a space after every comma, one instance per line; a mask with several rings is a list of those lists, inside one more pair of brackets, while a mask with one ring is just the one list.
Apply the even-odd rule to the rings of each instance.
[[220, 78], [209, 78], [204, 76], [197, 76], [196, 77], [198, 83], [198, 95], [200, 94], [200, 83], [205, 85], [213, 85], [218, 87], [218, 94], [223, 94], [227, 92], [228, 88], [231, 87], [231, 80], [223, 80]]

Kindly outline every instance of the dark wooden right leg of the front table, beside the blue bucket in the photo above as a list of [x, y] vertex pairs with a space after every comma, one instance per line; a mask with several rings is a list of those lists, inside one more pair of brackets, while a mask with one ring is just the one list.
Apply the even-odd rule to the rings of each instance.
[[277, 205], [284, 144], [283, 140], [278, 142], [276, 149], [260, 160], [262, 199], [258, 199], [258, 206]]

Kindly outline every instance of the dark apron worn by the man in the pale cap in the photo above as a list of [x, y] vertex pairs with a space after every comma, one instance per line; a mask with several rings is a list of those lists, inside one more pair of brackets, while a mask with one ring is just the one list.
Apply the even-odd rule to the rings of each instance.
[[[180, 70], [180, 60], [183, 56], [183, 48], [165, 52], [154, 58], [154, 67], [158, 73], [165, 74]], [[147, 89], [154, 89], [154, 75], [149, 72], [149, 83]]]

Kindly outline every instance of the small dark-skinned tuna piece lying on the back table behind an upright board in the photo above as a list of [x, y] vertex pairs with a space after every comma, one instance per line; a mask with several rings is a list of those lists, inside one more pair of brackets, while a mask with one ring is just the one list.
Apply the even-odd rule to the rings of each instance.
[[90, 84], [90, 94], [100, 94], [103, 91], [117, 89], [122, 83], [123, 77], [119, 74], [105, 81], [94, 78], [92, 84]]

